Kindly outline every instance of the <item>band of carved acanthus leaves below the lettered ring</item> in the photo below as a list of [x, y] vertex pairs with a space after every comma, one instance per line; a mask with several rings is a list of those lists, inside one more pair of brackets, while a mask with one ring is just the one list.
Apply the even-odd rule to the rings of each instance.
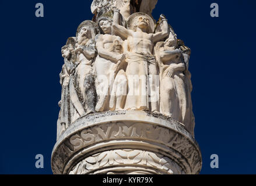
[[[120, 156], [120, 153], [123, 155]], [[124, 155], [125, 154], [125, 155]], [[117, 156], [118, 155], [118, 156]], [[178, 167], [177, 164], [171, 163], [169, 158], [158, 155], [157, 153], [148, 152], [148, 151], [139, 151], [139, 150], [113, 150], [98, 153], [94, 155], [93, 161], [89, 160], [92, 157], [88, 157], [78, 164], [71, 170], [69, 174], [75, 174], [83, 172], [86, 174], [91, 170], [97, 170], [106, 166], [113, 166], [118, 164], [130, 164], [136, 166], [145, 166], [148, 165], [153, 169], [158, 169], [165, 171], [168, 174], [173, 174], [173, 167], [175, 167], [175, 173], [182, 173], [183, 170]], [[95, 161], [96, 160], [96, 161]]]

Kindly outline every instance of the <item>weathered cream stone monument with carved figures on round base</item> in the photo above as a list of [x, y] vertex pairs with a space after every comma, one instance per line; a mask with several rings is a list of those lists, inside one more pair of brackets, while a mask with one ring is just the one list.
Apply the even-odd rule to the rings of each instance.
[[190, 48], [157, 0], [94, 0], [62, 47], [54, 174], [199, 174]]

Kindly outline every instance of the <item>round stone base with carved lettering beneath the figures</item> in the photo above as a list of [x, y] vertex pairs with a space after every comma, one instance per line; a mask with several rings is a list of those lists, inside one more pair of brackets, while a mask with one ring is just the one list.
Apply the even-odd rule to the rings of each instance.
[[199, 146], [183, 124], [143, 111], [76, 120], [52, 151], [54, 174], [198, 174]]

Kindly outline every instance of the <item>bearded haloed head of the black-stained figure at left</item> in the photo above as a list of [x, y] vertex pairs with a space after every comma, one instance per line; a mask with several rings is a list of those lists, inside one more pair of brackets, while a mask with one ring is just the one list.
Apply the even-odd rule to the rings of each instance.
[[90, 20], [85, 20], [79, 25], [78, 30], [76, 31], [76, 38], [79, 44], [86, 43], [98, 33], [99, 30], [97, 24]]

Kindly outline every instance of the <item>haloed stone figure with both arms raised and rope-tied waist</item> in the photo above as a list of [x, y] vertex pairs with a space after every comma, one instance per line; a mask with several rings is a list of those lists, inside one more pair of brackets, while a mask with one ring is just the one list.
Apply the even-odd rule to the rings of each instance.
[[[162, 31], [153, 33], [155, 23], [145, 13], [134, 13], [127, 20], [127, 27], [118, 25], [120, 11], [114, 10], [114, 33], [127, 39], [126, 74], [128, 77], [128, 94], [126, 110], [150, 110], [159, 112], [159, 91], [155, 88], [158, 75], [155, 56], [152, 55], [154, 44], [169, 35], [167, 20], [163, 15]], [[149, 76], [152, 77], [149, 89]], [[149, 95], [151, 99], [149, 100]], [[154, 99], [152, 99], [154, 97]]]

